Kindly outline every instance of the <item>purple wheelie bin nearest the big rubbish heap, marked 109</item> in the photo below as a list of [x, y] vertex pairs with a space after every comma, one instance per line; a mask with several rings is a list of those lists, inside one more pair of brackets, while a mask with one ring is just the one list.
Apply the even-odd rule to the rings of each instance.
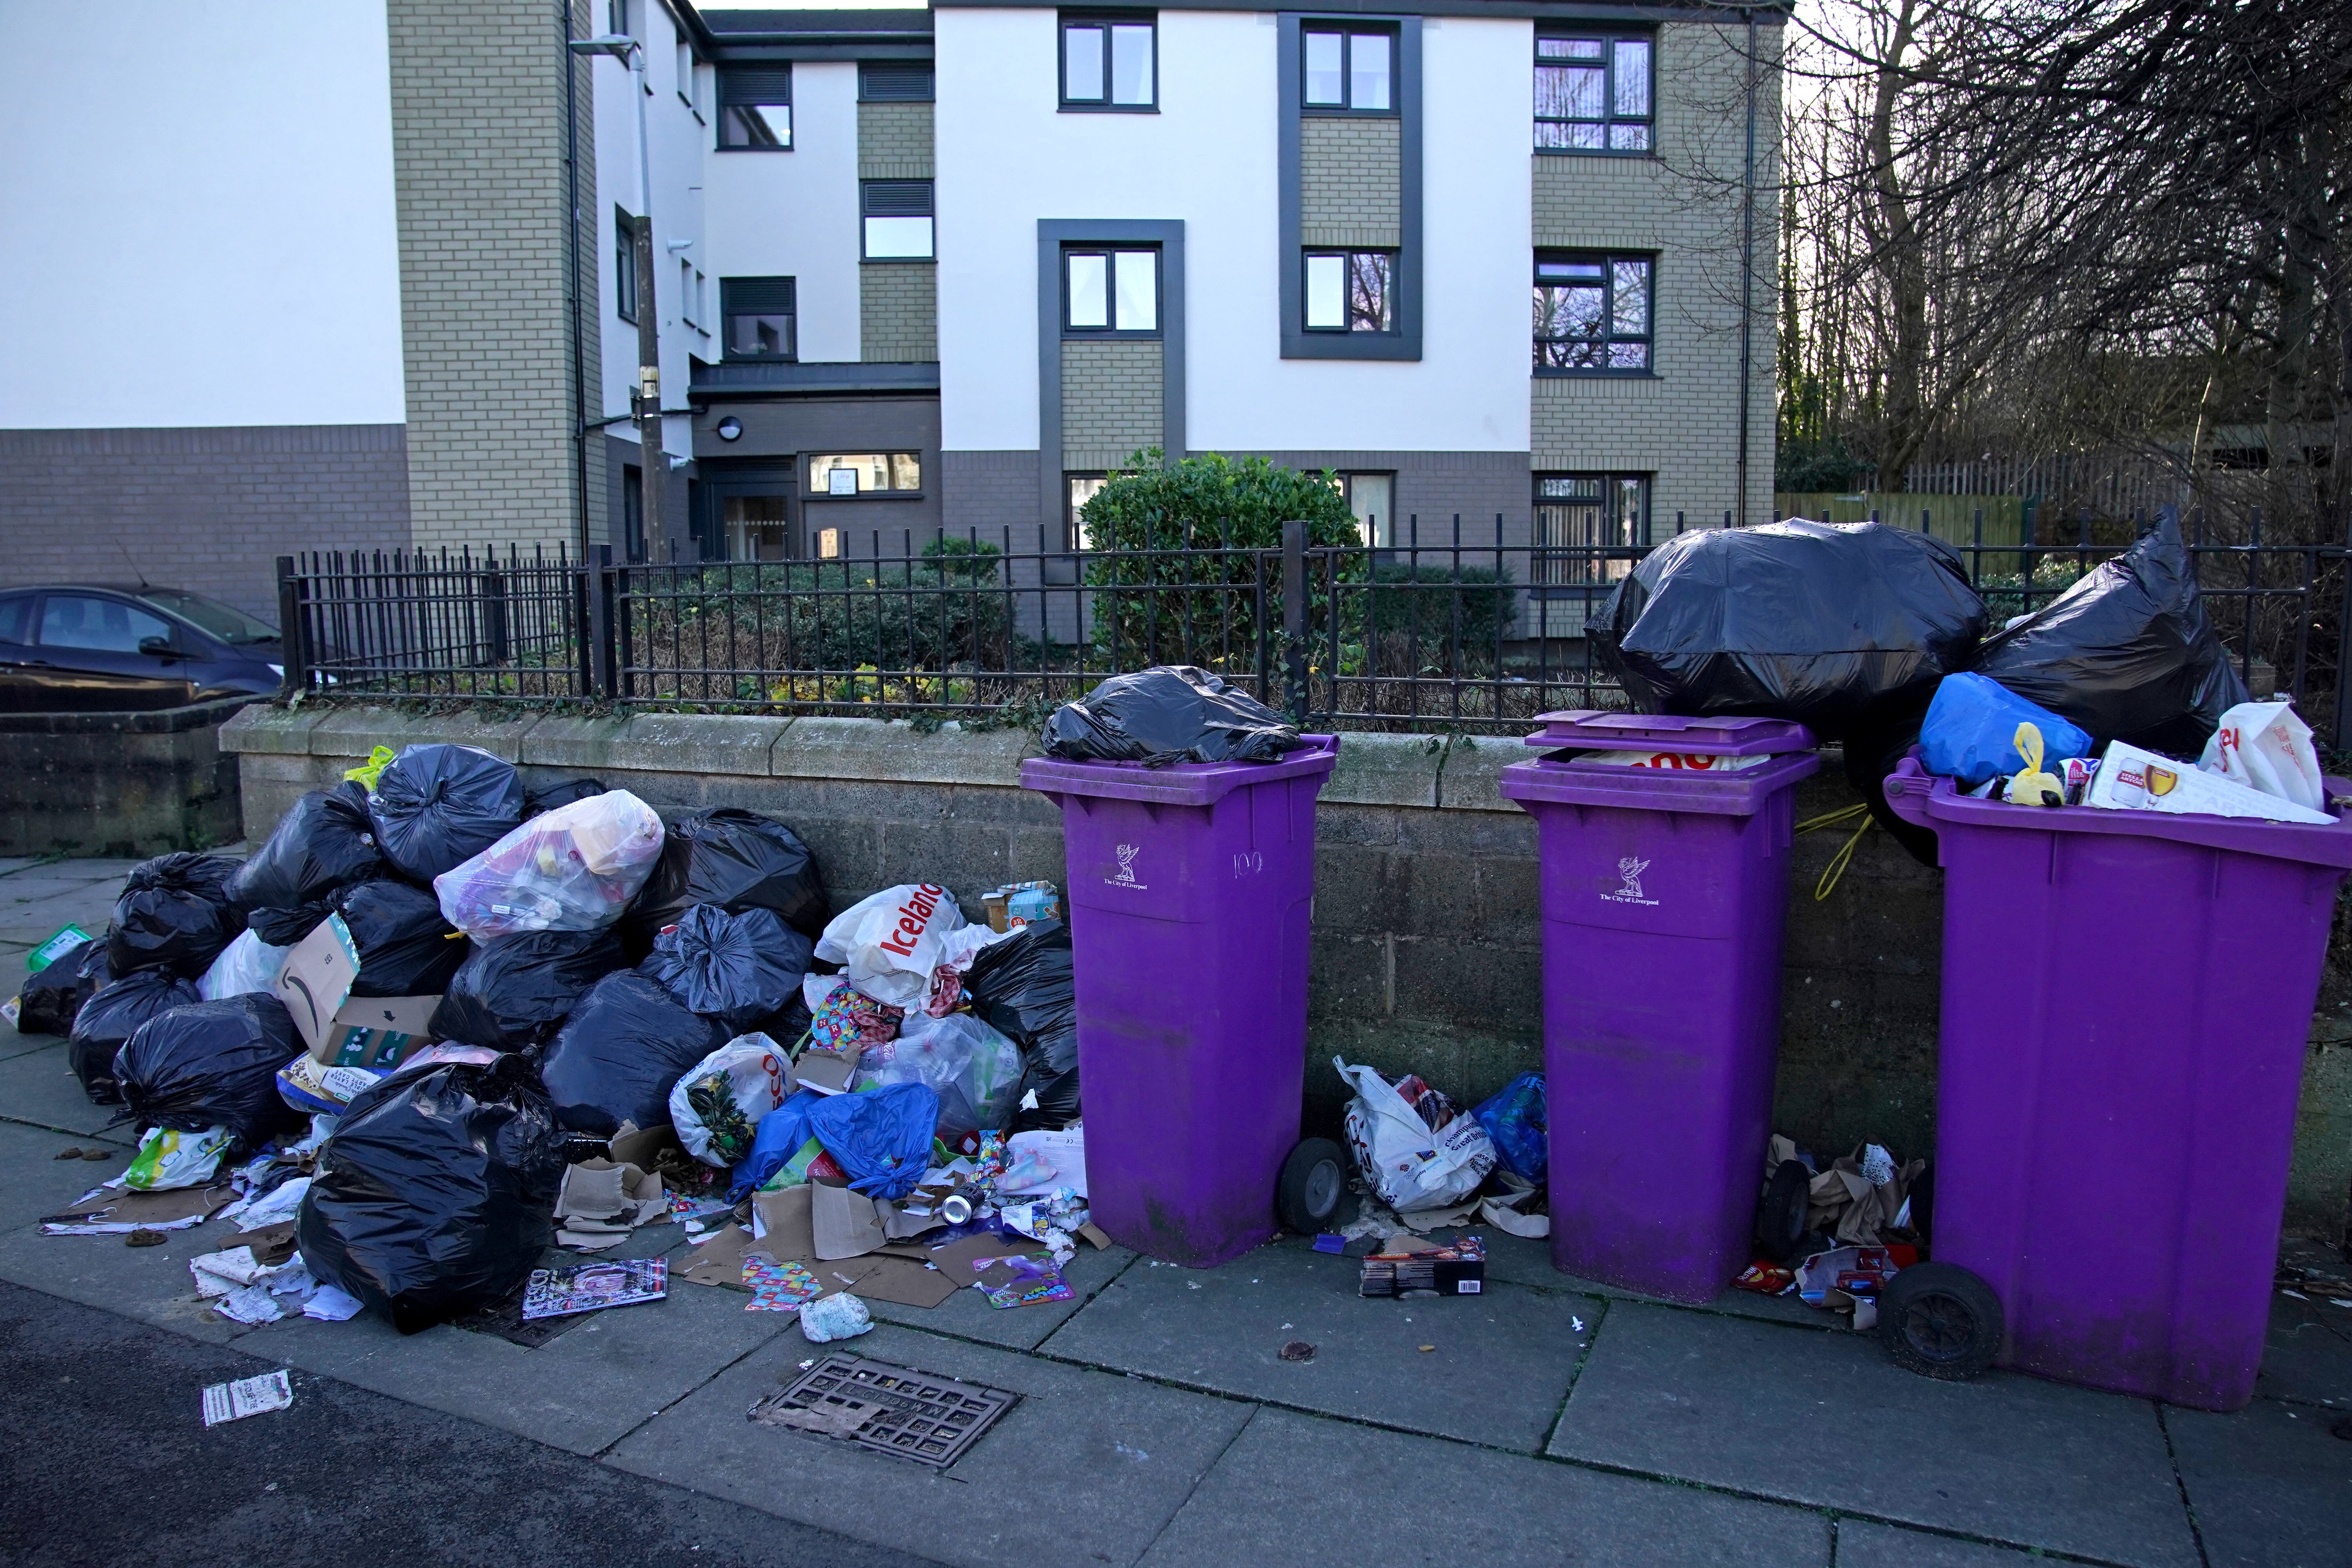
[[1030, 757], [1061, 804], [1087, 1187], [1112, 1241], [1195, 1269], [1275, 1234], [1308, 1048], [1315, 795], [1336, 736], [1282, 762]]

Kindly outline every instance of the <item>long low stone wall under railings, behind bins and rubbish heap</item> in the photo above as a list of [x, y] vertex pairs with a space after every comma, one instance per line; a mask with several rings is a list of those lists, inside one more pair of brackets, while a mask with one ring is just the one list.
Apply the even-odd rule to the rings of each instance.
[[[941, 882], [976, 912], [1000, 882], [1065, 882], [1061, 813], [1018, 788], [1021, 757], [1035, 752], [1025, 731], [339, 705], [252, 708], [221, 745], [242, 755], [245, 820], [259, 839], [296, 795], [334, 783], [369, 748], [419, 741], [480, 745], [532, 783], [593, 776], [666, 811], [767, 811], [816, 851], [835, 907], [898, 882]], [[1310, 1126], [1338, 1126], [1334, 1053], [1421, 1072], [1463, 1103], [1543, 1067], [1536, 825], [1496, 790], [1501, 769], [1526, 755], [1510, 741], [1343, 736], [1317, 809]], [[1832, 752], [1799, 788], [1797, 820], [1851, 804]], [[1870, 1138], [1924, 1154], [1936, 1133], [1943, 872], [1872, 830], [1816, 898], [1849, 832], [1797, 837], [1773, 1117], [1816, 1150]], [[2305, 1065], [2288, 1194], [2288, 1229], [2328, 1239], [2343, 1234], [2352, 1182], [2352, 987], [2336, 973]]]

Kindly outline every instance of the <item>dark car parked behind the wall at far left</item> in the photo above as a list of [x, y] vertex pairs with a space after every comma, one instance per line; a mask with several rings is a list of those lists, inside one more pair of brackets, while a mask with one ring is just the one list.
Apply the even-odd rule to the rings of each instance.
[[268, 696], [278, 628], [179, 588], [59, 583], [0, 590], [0, 710], [118, 712]]

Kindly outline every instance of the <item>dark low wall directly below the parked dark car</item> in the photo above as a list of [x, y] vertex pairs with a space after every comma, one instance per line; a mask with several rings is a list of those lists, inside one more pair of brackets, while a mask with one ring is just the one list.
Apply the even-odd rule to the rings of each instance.
[[219, 733], [249, 701], [0, 712], [0, 856], [160, 856], [235, 844], [245, 835], [238, 757], [221, 750]]

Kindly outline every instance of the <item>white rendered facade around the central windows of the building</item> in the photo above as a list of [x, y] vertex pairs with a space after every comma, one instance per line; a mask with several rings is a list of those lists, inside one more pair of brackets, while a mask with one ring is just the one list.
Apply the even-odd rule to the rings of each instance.
[[1185, 221], [1204, 449], [1526, 451], [1526, 21], [1423, 24], [1423, 357], [1284, 360], [1275, 19], [1160, 14], [1160, 113], [1056, 113], [1049, 9], [943, 9], [938, 357], [950, 451], [1037, 447], [1037, 221]]

